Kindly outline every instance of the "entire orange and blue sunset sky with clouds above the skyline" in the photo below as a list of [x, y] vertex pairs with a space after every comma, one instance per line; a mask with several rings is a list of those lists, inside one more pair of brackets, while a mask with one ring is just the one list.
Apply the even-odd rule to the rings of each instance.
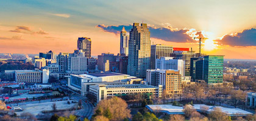
[[226, 59], [256, 59], [255, 0], [0, 1], [0, 53], [73, 52], [77, 38], [91, 54], [119, 53], [119, 31], [148, 24], [154, 44], [193, 48]]

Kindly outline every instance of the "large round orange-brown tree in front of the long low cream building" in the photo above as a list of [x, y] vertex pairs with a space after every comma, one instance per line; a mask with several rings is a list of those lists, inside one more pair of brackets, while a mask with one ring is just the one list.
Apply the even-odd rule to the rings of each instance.
[[112, 115], [112, 120], [123, 120], [126, 117], [130, 117], [130, 110], [127, 103], [119, 98], [112, 97], [111, 99], [101, 100], [96, 106], [96, 110], [102, 108], [103, 112], [109, 108]]

